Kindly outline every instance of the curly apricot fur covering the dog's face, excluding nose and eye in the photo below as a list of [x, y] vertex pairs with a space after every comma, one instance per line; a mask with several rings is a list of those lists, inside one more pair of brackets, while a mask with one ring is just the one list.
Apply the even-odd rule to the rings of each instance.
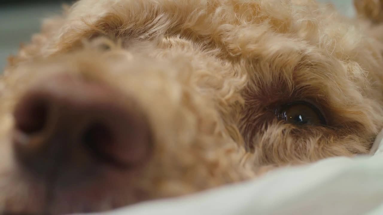
[[[383, 34], [358, 11], [348, 19], [312, 0], [80, 0], [46, 20], [5, 69], [0, 208], [108, 210], [367, 153], [383, 122]], [[54, 187], [48, 204], [49, 187], [11, 157], [11, 113], [31, 85], [56, 73], [134, 96], [154, 153], [134, 174]], [[329, 126], [287, 124], [270, 111], [297, 100], [316, 104]]]

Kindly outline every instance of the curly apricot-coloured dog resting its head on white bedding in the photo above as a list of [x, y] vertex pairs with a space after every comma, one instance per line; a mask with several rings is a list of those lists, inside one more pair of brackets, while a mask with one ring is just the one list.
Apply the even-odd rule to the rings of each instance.
[[354, 19], [313, 0], [65, 7], [1, 77], [0, 211], [102, 212], [367, 154], [383, 31], [365, 5]]

